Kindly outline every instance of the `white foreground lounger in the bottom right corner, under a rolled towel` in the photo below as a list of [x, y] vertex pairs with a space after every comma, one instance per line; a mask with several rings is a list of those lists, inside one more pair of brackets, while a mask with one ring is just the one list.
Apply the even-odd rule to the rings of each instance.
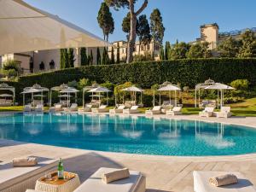
[[[210, 177], [218, 177], [227, 173], [236, 175], [238, 183], [215, 187], [209, 183]], [[195, 192], [256, 192], [253, 184], [240, 172], [193, 172]]]

